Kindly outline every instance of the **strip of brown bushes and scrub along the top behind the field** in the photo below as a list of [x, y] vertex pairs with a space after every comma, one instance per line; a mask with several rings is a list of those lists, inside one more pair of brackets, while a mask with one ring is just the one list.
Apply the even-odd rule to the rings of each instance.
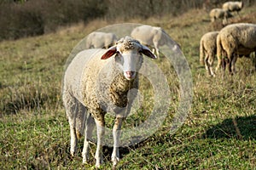
[[[210, 9], [224, 0], [1, 0], [0, 41], [54, 32], [93, 19], [131, 20], [176, 16], [191, 8]], [[244, 0], [246, 6], [255, 0]]]

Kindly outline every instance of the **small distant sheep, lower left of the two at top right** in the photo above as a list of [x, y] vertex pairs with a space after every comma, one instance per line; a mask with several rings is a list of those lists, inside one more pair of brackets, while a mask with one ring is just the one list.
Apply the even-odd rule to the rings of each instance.
[[214, 22], [217, 19], [223, 19], [223, 22], [226, 23], [228, 18], [233, 17], [233, 15], [230, 14], [229, 11], [224, 10], [222, 8], [212, 8], [209, 15], [211, 17], [212, 22]]

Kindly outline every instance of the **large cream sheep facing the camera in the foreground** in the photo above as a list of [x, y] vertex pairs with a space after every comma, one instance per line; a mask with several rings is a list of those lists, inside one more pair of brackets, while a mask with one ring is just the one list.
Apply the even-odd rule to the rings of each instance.
[[138, 88], [137, 71], [143, 64], [143, 54], [156, 56], [146, 46], [131, 37], [121, 38], [108, 49], [85, 49], [75, 56], [64, 74], [62, 99], [71, 134], [71, 155], [84, 132], [83, 163], [89, 158], [89, 142], [96, 124], [96, 167], [103, 163], [102, 140], [107, 111], [115, 113], [113, 125], [112, 161], [119, 161], [119, 136], [125, 116], [131, 110], [128, 92]]

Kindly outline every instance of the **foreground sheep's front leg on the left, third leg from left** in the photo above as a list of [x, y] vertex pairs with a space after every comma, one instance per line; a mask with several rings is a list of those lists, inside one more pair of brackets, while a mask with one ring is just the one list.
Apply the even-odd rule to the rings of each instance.
[[103, 163], [102, 156], [102, 144], [103, 144], [103, 136], [105, 133], [105, 122], [104, 119], [102, 121], [96, 120], [96, 130], [97, 130], [97, 148], [96, 148], [96, 167], [100, 167]]

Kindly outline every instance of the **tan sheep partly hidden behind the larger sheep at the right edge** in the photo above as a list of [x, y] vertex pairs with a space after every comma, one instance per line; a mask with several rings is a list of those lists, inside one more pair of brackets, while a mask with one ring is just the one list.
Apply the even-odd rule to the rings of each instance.
[[209, 75], [212, 77], [215, 76], [215, 73], [212, 71], [212, 65], [217, 53], [217, 36], [218, 31], [207, 32], [201, 37], [200, 41], [200, 62], [206, 66]]

